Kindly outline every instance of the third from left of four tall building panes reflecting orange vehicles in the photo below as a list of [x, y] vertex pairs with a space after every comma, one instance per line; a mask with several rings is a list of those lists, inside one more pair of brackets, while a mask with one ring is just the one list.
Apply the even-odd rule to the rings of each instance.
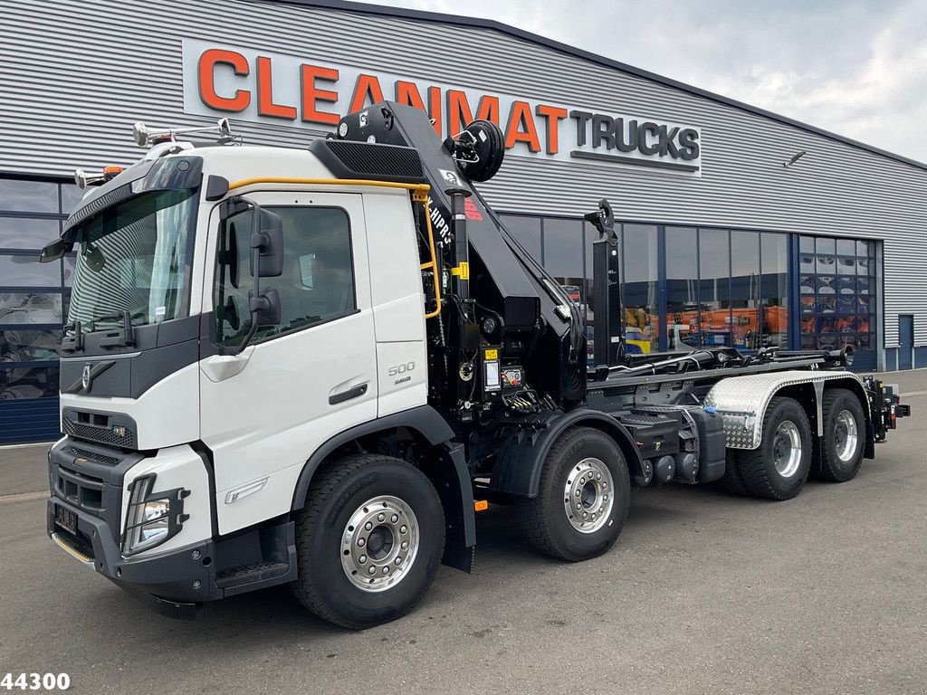
[[742, 350], [760, 347], [759, 234], [730, 233], [730, 336]]

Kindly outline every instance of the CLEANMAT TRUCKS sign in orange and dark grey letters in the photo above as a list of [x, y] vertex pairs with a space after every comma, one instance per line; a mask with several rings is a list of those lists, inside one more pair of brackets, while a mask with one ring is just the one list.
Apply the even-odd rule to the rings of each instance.
[[701, 132], [680, 123], [192, 39], [183, 50], [186, 113], [334, 131], [345, 114], [397, 101], [428, 113], [442, 138], [491, 120], [510, 156], [701, 171]]

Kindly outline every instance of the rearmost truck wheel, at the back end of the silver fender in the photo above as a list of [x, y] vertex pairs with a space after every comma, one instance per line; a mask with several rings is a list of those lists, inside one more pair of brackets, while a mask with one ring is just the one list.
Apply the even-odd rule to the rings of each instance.
[[824, 392], [824, 439], [820, 448], [820, 471], [823, 480], [845, 483], [853, 480], [863, 462], [866, 416], [859, 398], [845, 388]]

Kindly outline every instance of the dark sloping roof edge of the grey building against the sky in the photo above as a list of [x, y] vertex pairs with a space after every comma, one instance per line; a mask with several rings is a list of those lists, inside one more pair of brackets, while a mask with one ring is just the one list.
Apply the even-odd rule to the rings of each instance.
[[514, 36], [514, 38], [529, 41], [533, 44], [540, 44], [547, 48], [552, 48], [555, 51], [565, 53], [569, 56], [580, 57], [584, 60], [589, 60], [590, 62], [597, 63], [605, 68], [621, 70], [622, 72], [627, 72], [644, 80], [649, 80], [651, 82], [656, 82], [658, 84], [663, 84], [664, 86], [677, 89], [680, 92], [700, 96], [728, 107], [737, 108], [739, 110], [752, 113], [756, 116], [761, 116], [769, 120], [775, 120], [784, 125], [792, 126], [793, 128], [806, 131], [807, 133], [813, 133], [815, 135], [825, 137], [829, 140], [843, 143], [844, 145], [851, 145], [857, 149], [861, 149], [884, 158], [893, 159], [902, 164], [908, 164], [909, 166], [927, 171], [927, 163], [918, 161], [917, 159], [904, 157], [903, 155], [889, 152], [888, 150], [884, 150], [881, 147], [876, 147], [874, 145], [867, 145], [866, 143], [861, 143], [858, 140], [854, 140], [853, 138], [845, 137], [844, 135], [839, 135], [837, 133], [832, 133], [831, 131], [826, 131], [823, 128], [809, 125], [808, 123], [805, 123], [801, 120], [795, 120], [789, 118], [788, 116], [782, 116], [781, 114], [768, 111], [765, 108], [751, 106], [750, 104], [746, 104], [743, 101], [731, 99], [728, 96], [718, 95], [714, 92], [709, 92], [705, 89], [695, 87], [692, 84], [687, 84], [686, 82], [679, 82], [678, 80], [664, 77], [663, 75], [651, 72], [650, 70], [635, 68], [631, 65], [628, 65], [627, 63], [622, 63], [609, 57], [600, 56], [582, 48], [577, 48], [576, 46], [563, 44], [559, 41], [554, 41], [553, 39], [541, 36], [540, 34], [526, 32], [508, 24], [503, 24], [502, 22], [496, 21], [495, 19], [461, 17], [457, 15], [447, 15], [441, 12], [431, 12], [429, 10], [372, 5], [370, 3], [352, 2], [350, 0], [248, 0], [248, 2], [258, 2], [268, 5], [321, 7], [324, 9], [337, 9], [345, 12], [359, 12], [368, 15], [382, 15], [384, 17], [395, 17], [399, 19], [425, 20], [440, 22], [442, 24], [458, 25], [462, 27], [474, 27], [476, 29], [490, 29], [496, 32], [509, 34], [510, 36]]

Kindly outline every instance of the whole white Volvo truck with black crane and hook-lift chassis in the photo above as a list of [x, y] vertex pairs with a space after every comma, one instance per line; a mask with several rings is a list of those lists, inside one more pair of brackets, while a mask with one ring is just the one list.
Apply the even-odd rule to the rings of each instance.
[[177, 617], [289, 584], [351, 628], [470, 571], [476, 512], [513, 504], [564, 561], [617, 540], [631, 487], [791, 499], [853, 479], [908, 408], [843, 351], [626, 349], [603, 200], [595, 360], [575, 301], [475, 182], [487, 121], [441, 140], [382, 103], [308, 148], [134, 134], [42, 259], [76, 251], [48, 535]]

